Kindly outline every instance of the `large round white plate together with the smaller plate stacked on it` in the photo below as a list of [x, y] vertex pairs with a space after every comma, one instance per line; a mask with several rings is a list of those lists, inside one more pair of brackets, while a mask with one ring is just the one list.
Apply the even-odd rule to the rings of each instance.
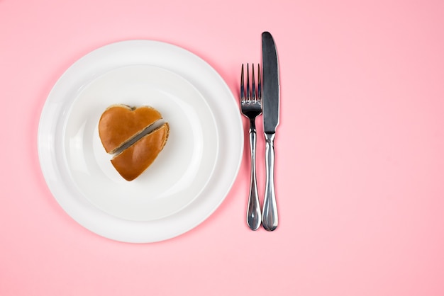
[[[154, 106], [171, 125], [155, 163], [132, 182], [109, 164], [96, 124], [112, 103]], [[109, 239], [162, 241], [203, 222], [233, 185], [243, 128], [221, 76], [191, 52], [164, 42], [106, 45], [75, 62], [43, 107], [40, 166], [74, 220]]]

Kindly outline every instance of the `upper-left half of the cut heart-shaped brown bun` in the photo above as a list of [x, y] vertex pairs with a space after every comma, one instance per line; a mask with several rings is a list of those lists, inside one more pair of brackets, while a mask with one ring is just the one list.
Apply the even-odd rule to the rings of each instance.
[[99, 120], [99, 136], [106, 152], [115, 153], [119, 147], [139, 135], [162, 115], [149, 106], [131, 108], [112, 105], [106, 108]]

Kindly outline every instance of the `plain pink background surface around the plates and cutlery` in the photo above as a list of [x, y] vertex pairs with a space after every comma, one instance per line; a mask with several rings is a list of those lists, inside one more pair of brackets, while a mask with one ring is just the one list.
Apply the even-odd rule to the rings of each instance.
[[[0, 295], [444, 295], [443, 16], [443, 1], [0, 0]], [[73, 62], [170, 42], [237, 98], [263, 30], [281, 71], [275, 232], [245, 224], [248, 149], [221, 207], [171, 240], [112, 241], [62, 210], [37, 129]]]

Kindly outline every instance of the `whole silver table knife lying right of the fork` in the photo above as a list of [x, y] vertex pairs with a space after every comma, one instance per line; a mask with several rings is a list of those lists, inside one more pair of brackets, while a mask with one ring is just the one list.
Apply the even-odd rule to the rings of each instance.
[[279, 63], [276, 45], [269, 32], [262, 33], [262, 118], [266, 141], [266, 183], [262, 226], [268, 231], [273, 231], [278, 222], [274, 193], [274, 136], [279, 125]]

